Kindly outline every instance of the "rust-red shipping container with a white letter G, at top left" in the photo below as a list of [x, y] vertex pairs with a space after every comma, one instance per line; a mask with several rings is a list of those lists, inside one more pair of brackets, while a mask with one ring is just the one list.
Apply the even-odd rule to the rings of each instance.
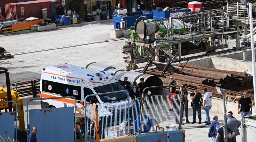
[[[51, 6], [50, 2], [54, 0], [38, 0], [38, 1], [29, 1], [29, 2], [20, 2], [5, 4], [6, 17], [10, 16], [10, 9], [13, 10], [14, 19], [17, 18], [43, 18], [41, 9], [47, 8], [47, 17], [51, 18]], [[61, 0], [55, 0], [55, 6], [62, 6]], [[57, 12], [57, 10], [56, 10]]]

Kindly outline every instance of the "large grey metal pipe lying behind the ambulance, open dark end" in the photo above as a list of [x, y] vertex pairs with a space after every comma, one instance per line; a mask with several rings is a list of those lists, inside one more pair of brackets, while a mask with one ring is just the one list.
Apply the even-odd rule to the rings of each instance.
[[[118, 70], [115, 67], [99, 64], [99, 63], [90, 63], [85, 68], [92, 70], [100, 70], [100, 71], [109, 71], [113, 72], [117, 79], [124, 80], [124, 77], [128, 77], [128, 81], [133, 85], [133, 82], [136, 81], [140, 83], [140, 78], [144, 78], [144, 81], [148, 84], [148, 87], [151, 86], [161, 86], [163, 85], [162, 80], [154, 75], [143, 74], [136, 71], [125, 71]], [[133, 87], [133, 86], [132, 86]], [[150, 89], [152, 95], [161, 95], [163, 88], [153, 88]]]

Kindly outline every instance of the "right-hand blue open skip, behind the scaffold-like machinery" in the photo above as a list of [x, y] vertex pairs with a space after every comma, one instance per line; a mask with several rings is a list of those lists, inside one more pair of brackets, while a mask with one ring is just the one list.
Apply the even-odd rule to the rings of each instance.
[[183, 9], [183, 8], [178, 8], [178, 10], [175, 11], [159, 11], [159, 10], [153, 10], [153, 19], [164, 19], [164, 18], [169, 18], [172, 15], [178, 15], [182, 13], [188, 13], [190, 12], [190, 9]]

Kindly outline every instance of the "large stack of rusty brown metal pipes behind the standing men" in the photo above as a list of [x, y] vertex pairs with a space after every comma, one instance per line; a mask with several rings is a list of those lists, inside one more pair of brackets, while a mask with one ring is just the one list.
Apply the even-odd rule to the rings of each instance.
[[166, 72], [164, 76], [161, 76], [162, 71], [159, 69], [147, 70], [146, 73], [160, 76], [164, 85], [169, 85], [169, 78], [172, 76], [177, 85], [185, 85], [190, 88], [190, 91], [193, 91], [193, 87], [198, 87], [202, 92], [203, 87], [206, 87], [210, 89], [214, 97], [222, 98], [222, 94], [217, 93], [215, 88], [215, 86], [219, 86], [226, 89], [232, 101], [238, 101], [243, 92], [247, 92], [248, 96], [254, 99], [253, 78], [246, 72], [226, 71], [192, 65], [183, 66], [184, 68], [180, 64], [174, 66], [180, 73]]

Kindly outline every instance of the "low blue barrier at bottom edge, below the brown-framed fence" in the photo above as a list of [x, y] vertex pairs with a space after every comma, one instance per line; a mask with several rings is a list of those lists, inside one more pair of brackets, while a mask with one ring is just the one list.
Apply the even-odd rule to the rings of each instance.
[[[163, 141], [163, 132], [158, 131], [143, 133], [140, 135], [136, 135], [136, 142], [156, 142]], [[164, 141], [167, 141], [167, 133], [164, 131]], [[184, 142], [184, 134], [183, 130], [171, 130], [169, 131], [169, 142]]]

